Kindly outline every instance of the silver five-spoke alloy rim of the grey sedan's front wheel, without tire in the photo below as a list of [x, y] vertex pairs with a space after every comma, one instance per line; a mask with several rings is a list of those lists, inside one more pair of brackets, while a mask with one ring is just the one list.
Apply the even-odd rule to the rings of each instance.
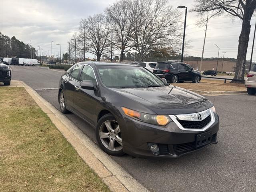
[[99, 130], [100, 141], [110, 151], [122, 150], [122, 137], [118, 122], [107, 120], [102, 123]]

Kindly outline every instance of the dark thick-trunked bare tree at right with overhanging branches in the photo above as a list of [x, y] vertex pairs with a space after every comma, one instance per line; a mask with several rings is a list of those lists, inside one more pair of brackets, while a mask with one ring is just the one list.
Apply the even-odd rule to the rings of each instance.
[[[239, 36], [237, 62], [234, 79], [244, 80], [246, 53], [248, 48], [251, 25], [250, 21], [256, 9], [256, 0], [195, 0], [194, 12], [219, 16], [228, 14], [242, 20], [242, 29]], [[235, 81], [232, 81], [235, 82]]]

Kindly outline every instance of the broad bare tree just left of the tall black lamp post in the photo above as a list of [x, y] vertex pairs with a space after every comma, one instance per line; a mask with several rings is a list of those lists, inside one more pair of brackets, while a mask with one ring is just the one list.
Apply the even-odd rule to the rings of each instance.
[[180, 12], [167, 6], [167, 0], [133, 0], [130, 10], [135, 18], [130, 46], [136, 49], [138, 60], [142, 61], [155, 48], [180, 49]]

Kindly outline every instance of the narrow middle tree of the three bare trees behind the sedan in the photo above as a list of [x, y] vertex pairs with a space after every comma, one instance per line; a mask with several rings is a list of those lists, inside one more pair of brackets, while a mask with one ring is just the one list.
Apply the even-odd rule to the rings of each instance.
[[126, 48], [133, 32], [134, 15], [130, 5], [130, 0], [117, 1], [105, 10], [110, 27], [116, 30], [114, 44], [121, 50], [120, 61], [123, 61], [124, 54], [128, 52]]

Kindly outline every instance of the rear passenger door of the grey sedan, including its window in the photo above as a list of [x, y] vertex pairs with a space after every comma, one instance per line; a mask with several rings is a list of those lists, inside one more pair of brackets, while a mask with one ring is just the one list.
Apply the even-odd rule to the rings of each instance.
[[78, 75], [80, 74], [80, 70], [82, 68], [82, 65], [75, 66], [65, 77], [64, 79], [64, 96], [66, 98], [66, 105], [69, 109], [74, 110], [74, 92], [75, 92], [75, 86], [78, 82]]

